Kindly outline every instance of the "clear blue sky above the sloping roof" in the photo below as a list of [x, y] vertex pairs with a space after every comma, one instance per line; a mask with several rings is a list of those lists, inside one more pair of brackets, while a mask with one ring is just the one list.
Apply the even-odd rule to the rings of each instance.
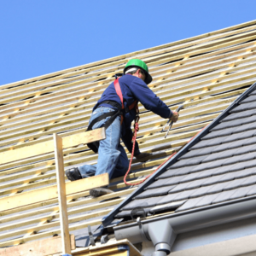
[[2, 0], [0, 84], [255, 20], [255, 0]]

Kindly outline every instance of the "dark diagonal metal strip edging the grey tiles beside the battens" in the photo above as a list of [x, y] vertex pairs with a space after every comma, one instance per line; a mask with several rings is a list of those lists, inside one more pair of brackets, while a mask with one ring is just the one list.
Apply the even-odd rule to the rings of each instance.
[[194, 139], [192, 139], [188, 144], [186, 144], [180, 151], [175, 154], [171, 160], [166, 162], [165, 165], [161, 166], [158, 172], [155, 172], [151, 177], [148, 178], [148, 181], [146, 183], [142, 183], [134, 192], [131, 193], [129, 197], [127, 197], [124, 201], [122, 201], [117, 207], [113, 209], [112, 212], [109, 212], [107, 216], [104, 216], [102, 218], [102, 224], [104, 227], [107, 227], [108, 225], [111, 225], [114, 216], [119, 213], [119, 209], [122, 207], [125, 207], [126, 204], [132, 201], [132, 198], [139, 195], [143, 192], [143, 190], [148, 187], [151, 183], [154, 183], [154, 180], [156, 177], [160, 176], [163, 172], [166, 172], [166, 169], [169, 166], [172, 166], [174, 163], [177, 162], [177, 160], [183, 156], [183, 154], [186, 154], [189, 151], [189, 148], [193, 147], [196, 143], [198, 143], [201, 140], [201, 137], [204, 137], [215, 125], [218, 124], [218, 122], [222, 119], [224, 119], [230, 112], [231, 109], [236, 108], [236, 106], [241, 102], [244, 98], [247, 97], [248, 94], [250, 94], [253, 90], [256, 88], [256, 82], [252, 84], [246, 91], [244, 91], [241, 96], [239, 96], [236, 101], [232, 102], [228, 108], [226, 108], [216, 119], [212, 120], [212, 123], [210, 125], [207, 125], [206, 129], [202, 130]]

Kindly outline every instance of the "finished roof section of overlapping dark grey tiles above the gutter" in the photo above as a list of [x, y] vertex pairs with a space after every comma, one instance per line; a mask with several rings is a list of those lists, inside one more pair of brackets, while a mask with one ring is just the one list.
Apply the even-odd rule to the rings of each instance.
[[256, 195], [255, 89], [256, 83], [115, 217], [131, 218], [136, 207], [154, 215]]

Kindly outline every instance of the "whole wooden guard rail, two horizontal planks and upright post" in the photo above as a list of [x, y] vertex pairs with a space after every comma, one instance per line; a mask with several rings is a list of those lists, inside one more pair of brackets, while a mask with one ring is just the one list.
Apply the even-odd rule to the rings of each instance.
[[[109, 184], [109, 177], [108, 173], [105, 173], [97, 177], [89, 177], [84, 180], [82, 179], [74, 181], [73, 183], [66, 184], [64, 175], [63, 148], [71, 148], [74, 146], [78, 146], [79, 144], [92, 143], [105, 138], [105, 128], [99, 128], [93, 131], [80, 132], [78, 134], [63, 138], [57, 134], [53, 134], [53, 140], [44, 143], [36, 143], [31, 146], [17, 148], [1, 153], [0, 165], [15, 160], [26, 159], [39, 154], [47, 154], [54, 151], [57, 185], [49, 186], [43, 189], [35, 189], [29, 192], [21, 193], [19, 195], [3, 197], [0, 199], [0, 212], [16, 207], [23, 207], [28, 204], [37, 203], [38, 201], [48, 201], [58, 197], [61, 225], [61, 250], [63, 254], [71, 254], [71, 241], [68, 230], [66, 195], [80, 192], [81, 189], [87, 190], [100, 186], [106, 186]], [[30, 198], [29, 203], [27, 202], [27, 198]]]

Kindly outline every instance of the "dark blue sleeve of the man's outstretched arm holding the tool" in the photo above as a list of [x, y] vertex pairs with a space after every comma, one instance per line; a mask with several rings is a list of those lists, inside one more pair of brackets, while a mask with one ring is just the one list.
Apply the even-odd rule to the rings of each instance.
[[148, 88], [142, 79], [134, 79], [130, 85], [130, 90], [146, 109], [151, 110], [164, 119], [172, 117], [172, 110]]

